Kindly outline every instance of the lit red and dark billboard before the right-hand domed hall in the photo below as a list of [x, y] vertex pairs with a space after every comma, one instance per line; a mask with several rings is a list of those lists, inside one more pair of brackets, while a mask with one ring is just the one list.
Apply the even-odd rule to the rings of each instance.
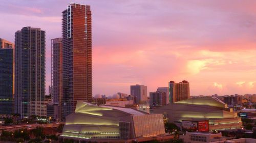
[[186, 131], [209, 131], [209, 121], [185, 121], [182, 120], [182, 130]]

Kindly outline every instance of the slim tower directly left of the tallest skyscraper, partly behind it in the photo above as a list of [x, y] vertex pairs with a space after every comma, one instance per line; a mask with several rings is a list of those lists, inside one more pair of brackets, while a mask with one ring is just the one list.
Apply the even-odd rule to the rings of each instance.
[[62, 63], [62, 38], [52, 39], [52, 96], [55, 119], [61, 119]]

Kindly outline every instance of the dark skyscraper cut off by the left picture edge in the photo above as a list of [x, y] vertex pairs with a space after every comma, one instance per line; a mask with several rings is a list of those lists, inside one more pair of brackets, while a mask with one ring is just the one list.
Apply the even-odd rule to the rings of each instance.
[[0, 114], [13, 113], [14, 44], [0, 39]]

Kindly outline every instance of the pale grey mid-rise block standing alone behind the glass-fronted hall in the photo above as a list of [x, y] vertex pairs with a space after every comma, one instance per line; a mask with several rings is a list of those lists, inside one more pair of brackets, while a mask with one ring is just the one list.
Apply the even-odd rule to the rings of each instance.
[[131, 85], [131, 95], [135, 97], [135, 104], [147, 104], [147, 87], [144, 85]]

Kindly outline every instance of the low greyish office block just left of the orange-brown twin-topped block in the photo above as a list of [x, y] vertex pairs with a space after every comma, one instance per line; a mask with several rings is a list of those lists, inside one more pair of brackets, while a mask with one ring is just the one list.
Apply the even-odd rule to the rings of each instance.
[[150, 92], [150, 106], [162, 106], [166, 105], [165, 92]]

